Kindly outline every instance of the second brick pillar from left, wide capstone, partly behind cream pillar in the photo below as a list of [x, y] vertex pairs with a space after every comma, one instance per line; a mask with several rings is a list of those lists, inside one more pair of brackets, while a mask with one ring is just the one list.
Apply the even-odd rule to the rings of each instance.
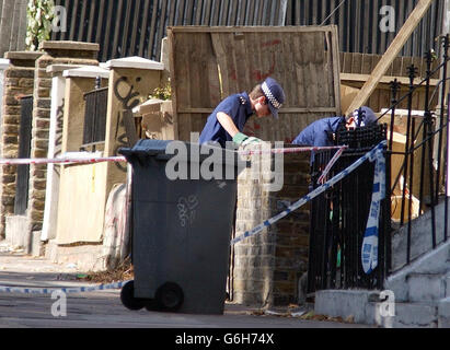
[[[44, 55], [36, 60], [36, 81], [34, 85], [34, 106], [32, 122], [32, 158], [46, 158], [48, 153], [50, 108], [51, 108], [51, 73], [47, 67], [51, 65], [99, 66], [96, 56], [99, 44], [77, 42], [44, 42], [39, 49]], [[42, 230], [45, 208], [47, 165], [31, 165], [27, 217], [31, 231]]]

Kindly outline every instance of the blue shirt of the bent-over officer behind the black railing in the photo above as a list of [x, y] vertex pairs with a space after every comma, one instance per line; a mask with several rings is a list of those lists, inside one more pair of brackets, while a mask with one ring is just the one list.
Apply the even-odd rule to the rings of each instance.
[[311, 147], [334, 145], [333, 140], [330, 139], [330, 133], [336, 132], [341, 122], [345, 122], [345, 117], [330, 117], [315, 120], [305, 127], [292, 143]]

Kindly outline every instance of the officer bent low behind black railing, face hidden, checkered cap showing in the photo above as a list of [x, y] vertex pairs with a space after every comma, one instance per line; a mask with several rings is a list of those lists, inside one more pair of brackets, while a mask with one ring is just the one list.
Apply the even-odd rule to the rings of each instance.
[[[361, 114], [361, 118], [359, 115]], [[348, 129], [368, 126], [377, 122], [377, 116], [373, 110], [367, 106], [356, 109], [347, 118], [330, 117], [315, 120], [305, 127], [292, 141], [293, 144], [311, 147], [330, 147], [334, 145], [334, 135], [339, 127]]]

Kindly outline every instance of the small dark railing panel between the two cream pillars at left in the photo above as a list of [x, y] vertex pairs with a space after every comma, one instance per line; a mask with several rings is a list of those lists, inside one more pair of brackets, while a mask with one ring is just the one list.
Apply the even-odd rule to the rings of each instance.
[[84, 127], [82, 150], [96, 148], [105, 143], [107, 88], [99, 88], [84, 94]]

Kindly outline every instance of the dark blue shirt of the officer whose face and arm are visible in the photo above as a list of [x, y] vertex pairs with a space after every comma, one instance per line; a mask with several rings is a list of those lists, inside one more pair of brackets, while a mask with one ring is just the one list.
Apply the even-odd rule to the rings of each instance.
[[226, 147], [227, 141], [232, 141], [233, 138], [223, 129], [219, 120], [217, 120], [217, 114], [223, 112], [233, 119], [234, 125], [242, 132], [246, 120], [252, 116], [252, 104], [246, 92], [230, 95], [224, 98], [212, 114], [208, 117], [205, 128], [200, 133], [199, 143], [205, 142], [219, 142], [222, 148]]

